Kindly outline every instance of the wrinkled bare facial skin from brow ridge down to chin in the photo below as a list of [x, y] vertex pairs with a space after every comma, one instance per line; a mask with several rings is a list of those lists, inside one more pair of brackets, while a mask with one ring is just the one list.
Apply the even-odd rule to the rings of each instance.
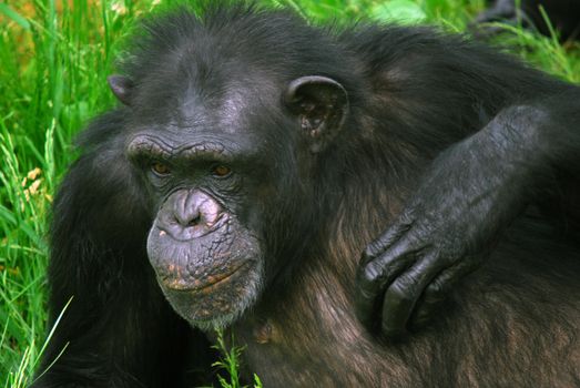
[[[121, 101], [129, 101], [122, 88], [129, 80], [109, 82]], [[217, 120], [230, 118], [224, 113]], [[263, 248], [258, 231], [237, 215], [247, 188], [230, 165], [241, 144], [228, 147], [201, 126], [177, 131], [181, 140], [171, 144], [159, 133], [138, 130], [126, 154], [155, 208], [146, 252], [161, 289], [191, 325], [211, 329], [231, 324], [255, 302], [264, 276]]]

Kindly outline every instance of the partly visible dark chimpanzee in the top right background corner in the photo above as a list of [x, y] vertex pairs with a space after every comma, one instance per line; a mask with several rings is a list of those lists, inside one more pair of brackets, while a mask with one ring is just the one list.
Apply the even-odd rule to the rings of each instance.
[[517, 7], [515, 0], [488, 0], [490, 8], [476, 19], [476, 22], [505, 21], [535, 27], [540, 33], [550, 35], [550, 27], [558, 31], [562, 41], [580, 38], [580, 1], [578, 0], [521, 0]]

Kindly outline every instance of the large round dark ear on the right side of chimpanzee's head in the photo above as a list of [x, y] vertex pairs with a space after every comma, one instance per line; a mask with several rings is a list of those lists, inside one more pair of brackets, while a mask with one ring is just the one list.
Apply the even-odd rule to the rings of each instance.
[[292, 81], [285, 101], [298, 116], [311, 152], [317, 153], [340, 131], [348, 111], [348, 94], [335, 80], [319, 75]]

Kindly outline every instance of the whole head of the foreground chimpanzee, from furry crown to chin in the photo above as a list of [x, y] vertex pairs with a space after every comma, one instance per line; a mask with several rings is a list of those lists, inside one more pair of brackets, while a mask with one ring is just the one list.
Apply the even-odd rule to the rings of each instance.
[[311, 60], [248, 18], [171, 17], [160, 25], [177, 34], [150, 25], [129, 75], [109, 83], [126, 105], [126, 156], [151, 204], [157, 282], [182, 317], [210, 328], [255, 303], [281, 266], [273, 246], [304, 229], [306, 175], [344, 126], [348, 95], [330, 76], [301, 74]]

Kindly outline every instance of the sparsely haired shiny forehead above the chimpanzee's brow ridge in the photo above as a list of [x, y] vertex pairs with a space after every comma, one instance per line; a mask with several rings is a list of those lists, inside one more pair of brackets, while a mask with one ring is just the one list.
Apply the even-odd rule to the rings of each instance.
[[252, 79], [250, 72], [237, 79], [217, 75], [190, 76], [165, 90], [165, 99], [143, 101], [143, 113], [134, 115], [134, 135], [162, 136], [174, 149], [222, 144], [237, 154], [279, 137], [283, 89], [266, 76]]

